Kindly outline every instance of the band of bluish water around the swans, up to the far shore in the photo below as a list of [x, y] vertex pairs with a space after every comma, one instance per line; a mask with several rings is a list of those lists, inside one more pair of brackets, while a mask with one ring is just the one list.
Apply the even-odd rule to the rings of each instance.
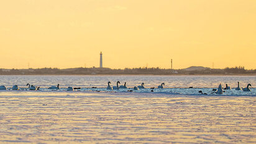
[[[155, 76], [155, 75], [102, 75], [102, 76], [77, 76], [77, 75], [15, 75], [15, 76], [0, 76], [0, 85], [6, 85], [9, 89], [12, 85], [16, 84], [21, 87], [21, 90], [26, 90], [26, 84], [30, 83], [40, 86], [42, 91], [50, 91], [47, 88], [60, 83], [59, 91], [66, 91], [67, 87], [80, 87], [81, 91], [108, 91], [106, 90], [107, 82], [112, 82], [112, 86], [116, 86], [117, 80], [124, 85], [127, 82], [127, 87], [132, 90], [134, 86], [145, 83], [145, 89], [133, 91], [137, 93], [150, 93], [150, 88], [155, 87], [155, 93], [169, 93], [172, 95], [198, 95], [198, 91], [203, 91], [211, 95], [213, 88], [217, 88], [219, 83], [225, 87], [226, 83], [232, 88], [237, 87], [237, 82], [240, 82], [240, 87], [246, 87], [247, 83], [251, 83], [252, 87], [256, 85], [256, 76], [226, 76], [226, 75], [213, 75], [213, 76], [199, 76], [199, 75], [180, 75], [180, 76]], [[160, 83], [165, 83], [164, 89], [156, 89]], [[97, 88], [91, 88], [97, 87]], [[188, 88], [193, 87], [193, 88]], [[236, 91], [226, 90], [223, 95], [255, 95], [255, 88], [252, 91]], [[119, 92], [127, 92], [127, 89], [117, 90]]]

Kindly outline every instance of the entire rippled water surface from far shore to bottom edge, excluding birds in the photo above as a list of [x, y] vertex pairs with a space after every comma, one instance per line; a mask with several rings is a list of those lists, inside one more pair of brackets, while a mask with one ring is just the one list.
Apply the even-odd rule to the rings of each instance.
[[[219, 83], [255, 87], [255, 76], [17, 75], [0, 80], [8, 88], [0, 91], [0, 143], [256, 143], [255, 88], [212, 93]], [[108, 81], [117, 80], [129, 89], [106, 90]], [[127, 91], [142, 82], [145, 89]], [[158, 89], [162, 82], [165, 88]], [[30, 91], [27, 83], [41, 90]], [[48, 90], [58, 83], [60, 90]], [[21, 90], [10, 90], [14, 84]], [[66, 91], [69, 86], [81, 89]]]

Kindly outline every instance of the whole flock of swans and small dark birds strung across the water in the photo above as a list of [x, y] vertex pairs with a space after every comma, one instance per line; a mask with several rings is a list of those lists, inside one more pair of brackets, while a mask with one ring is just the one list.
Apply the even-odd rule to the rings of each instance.
[[[126, 87], [126, 82], [124, 83], [124, 85], [120, 85], [120, 86], [119, 86], [120, 82], [117, 81], [116, 86], [114, 86], [114, 87], [112, 87], [110, 84], [111, 84], [111, 82], [107, 82], [107, 88], [106, 88], [107, 90], [119, 90], [119, 89], [121, 89], [121, 88], [127, 88], [127, 87]], [[163, 88], [164, 85], [165, 85], [165, 83], [161, 83], [161, 85], [158, 85], [157, 88]], [[249, 88], [249, 86], [252, 87], [252, 85], [249, 83], [249, 84], [247, 85], [247, 87], [245, 87], [245, 88], [240, 88], [240, 85], [239, 85], [239, 82], [238, 82], [237, 87], [234, 88], [234, 89], [235, 89], [235, 90], [242, 90], [242, 91], [251, 91], [250, 88]], [[27, 83], [27, 87], [29, 88], [29, 90], [40, 90], [40, 87], [35, 87], [34, 85], [30, 85], [29, 83]], [[92, 87], [92, 88], [96, 88], [96, 87]], [[143, 89], [143, 88], [145, 88], [145, 87], [144, 87], [144, 83], [142, 83], [141, 85], [139, 85], [139, 86], [137, 86], [137, 87], [134, 87], [133, 90], [140, 90], [140, 89]], [[154, 89], [154, 88], [155, 88], [155, 87], [150, 88], [152, 92], [153, 92], [153, 89]], [[193, 88], [193, 87], [190, 87], [190, 88]], [[60, 90], [60, 84], [58, 84], [57, 87], [52, 86], [52, 87], [49, 87], [48, 89], [50, 89], [50, 90]], [[74, 91], [74, 90], [76, 90], [76, 89], [80, 89], [80, 88], [68, 87], [68, 88], [66, 88], [66, 91]], [[222, 85], [221, 85], [221, 83], [220, 83], [220, 84], [219, 84], [219, 88], [213, 89], [213, 93], [216, 93], [216, 94], [223, 94], [223, 92], [225, 92], [224, 90], [231, 90], [231, 89], [232, 89], [232, 88], [229, 87], [229, 86], [227, 86], [227, 84], [226, 84], [226, 88], [222, 88]], [[0, 86], [0, 90], [7, 90], [7, 88], [6, 88], [6, 86], [1, 85], [1, 86]], [[11, 90], [20, 90], [20, 88], [19, 88], [18, 85], [13, 85], [12, 88], [11, 88]], [[128, 90], [128, 91], [133, 91], [133, 90]], [[203, 91], [199, 91], [199, 93], [207, 95], [207, 93], [203, 93]]]

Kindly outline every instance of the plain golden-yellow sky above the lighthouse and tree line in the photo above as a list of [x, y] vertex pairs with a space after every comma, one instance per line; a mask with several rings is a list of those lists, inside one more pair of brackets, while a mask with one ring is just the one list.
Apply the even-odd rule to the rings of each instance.
[[256, 69], [255, 0], [3, 0], [0, 68]]

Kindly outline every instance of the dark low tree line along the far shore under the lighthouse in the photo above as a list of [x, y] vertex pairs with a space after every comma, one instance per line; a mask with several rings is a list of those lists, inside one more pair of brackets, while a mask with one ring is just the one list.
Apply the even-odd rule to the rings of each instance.
[[42, 68], [42, 69], [0, 69], [0, 75], [211, 75], [211, 74], [256, 74], [256, 69], [244, 67], [226, 67], [225, 69], [186, 70], [186, 69], [160, 69], [159, 67], [139, 67], [125, 69], [109, 68]]

